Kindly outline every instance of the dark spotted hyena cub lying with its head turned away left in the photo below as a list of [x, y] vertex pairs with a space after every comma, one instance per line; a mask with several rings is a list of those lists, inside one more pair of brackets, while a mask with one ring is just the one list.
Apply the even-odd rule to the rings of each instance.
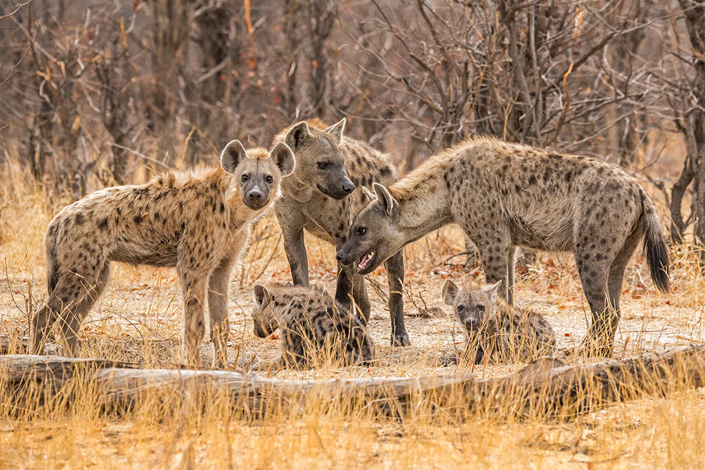
[[255, 286], [252, 320], [260, 338], [281, 327], [282, 367], [349, 365], [374, 356], [372, 338], [349, 308], [317, 287]]

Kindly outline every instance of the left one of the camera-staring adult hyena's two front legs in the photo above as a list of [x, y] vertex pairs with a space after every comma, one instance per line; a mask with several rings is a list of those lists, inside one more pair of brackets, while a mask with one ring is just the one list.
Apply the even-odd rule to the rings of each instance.
[[204, 302], [208, 276], [203, 272], [186, 271], [178, 268], [183, 301], [183, 350], [186, 361], [198, 367], [201, 365], [201, 342], [206, 334], [204, 323]]

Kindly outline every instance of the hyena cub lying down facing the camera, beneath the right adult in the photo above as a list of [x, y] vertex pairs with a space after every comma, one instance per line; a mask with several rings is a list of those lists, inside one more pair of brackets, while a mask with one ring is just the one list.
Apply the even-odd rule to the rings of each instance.
[[553, 354], [556, 338], [551, 325], [541, 315], [499, 298], [499, 284], [458, 287], [450, 279], [443, 284], [443, 301], [453, 306], [467, 332], [465, 359], [477, 364], [487, 354], [496, 361], [515, 362]]

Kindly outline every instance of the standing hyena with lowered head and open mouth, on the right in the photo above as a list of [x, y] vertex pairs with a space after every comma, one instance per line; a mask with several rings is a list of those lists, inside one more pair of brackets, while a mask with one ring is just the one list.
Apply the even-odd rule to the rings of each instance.
[[429, 158], [357, 216], [338, 261], [365, 274], [429, 231], [457, 222], [488, 282], [512, 303], [515, 246], [575, 253], [592, 325], [584, 347], [609, 355], [625, 266], [639, 241], [668, 292], [668, 251], [654, 205], [620, 167], [495, 138], [470, 138]]

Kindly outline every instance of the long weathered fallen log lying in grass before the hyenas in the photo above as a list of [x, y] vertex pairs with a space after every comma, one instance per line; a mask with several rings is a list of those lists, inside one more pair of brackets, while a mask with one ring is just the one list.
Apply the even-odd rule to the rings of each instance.
[[[570, 366], [541, 358], [517, 373], [489, 379], [472, 374], [419, 378], [277, 380], [226, 370], [145, 370], [102, 359], [0, 356], [0, 388], [20, 393], [27, 384], [65, 394], [80, 378], [98, 402], [129, 409], [144, 397], [180, 397], [190, 406], [219, 395], [248, 414], [307, 400], [373, 404], [379, 411], [403, 413], [426, 403], [434, 410], [477, 411], [500, 416], [572, 418], [640, 397], [660, 397], [703, 385], [705, 344], [676, 347], [626, 359]], [[23, 389], [24, 387], [24, 389]], [[71, 392], [73, 393], [73, 391]]]

